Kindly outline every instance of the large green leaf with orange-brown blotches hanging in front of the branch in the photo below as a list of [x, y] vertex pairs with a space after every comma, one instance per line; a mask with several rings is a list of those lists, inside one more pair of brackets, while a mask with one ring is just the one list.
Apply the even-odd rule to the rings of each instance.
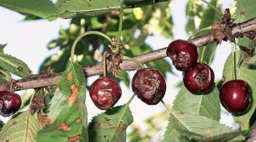
[[38, 142], [88, 141], [87, 110], [85, 101], [85, 75], [77, 63], [70, 63], [57, 83], [56, 92], [51, 99], [48, 118], [51, 120], [40, 130]]

